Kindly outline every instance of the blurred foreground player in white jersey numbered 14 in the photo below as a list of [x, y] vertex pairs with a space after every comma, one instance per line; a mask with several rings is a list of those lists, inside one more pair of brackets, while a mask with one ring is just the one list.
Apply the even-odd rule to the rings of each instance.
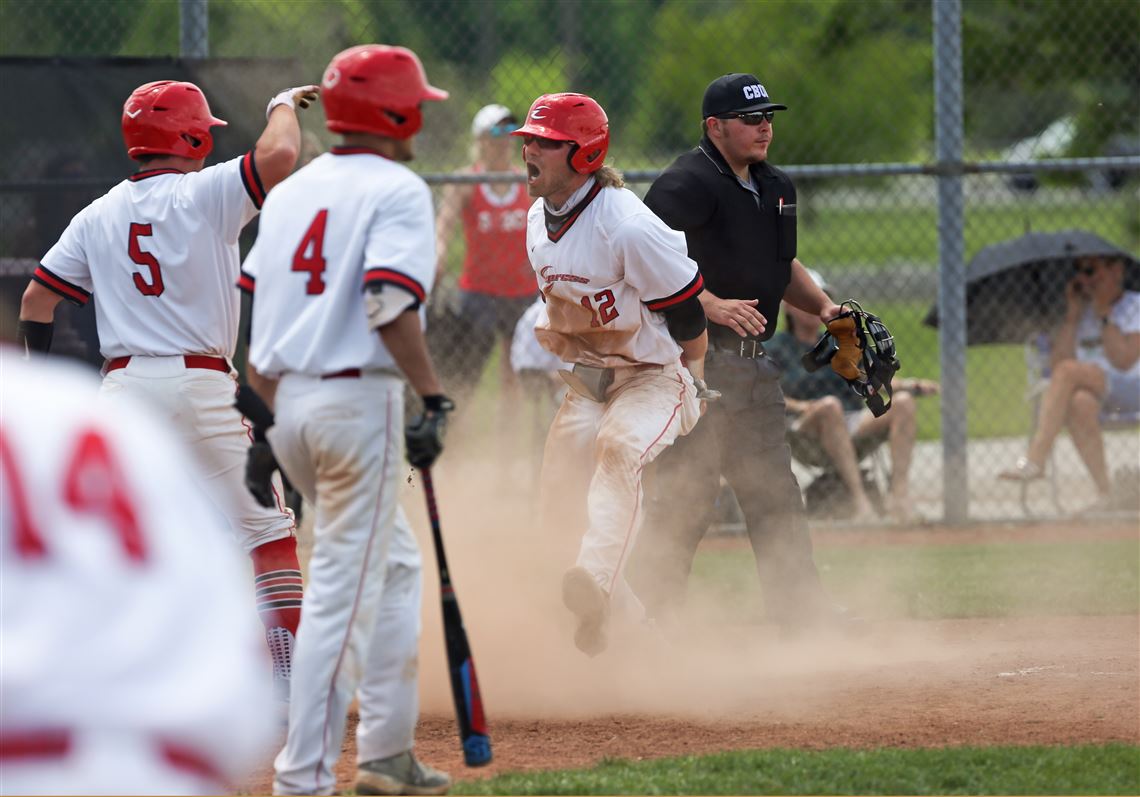
[[220, 517], [146, 405], [15, 347], [0, 373], [0, 792], [222, 794], [274, 723]]

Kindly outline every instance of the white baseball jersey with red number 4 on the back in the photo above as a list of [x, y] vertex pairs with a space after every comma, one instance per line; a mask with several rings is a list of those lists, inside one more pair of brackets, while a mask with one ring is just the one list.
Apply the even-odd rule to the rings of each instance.
[[431, 192], [365, 147], [334, 147], [274, 188], [239, 286], [255, 292], [250, 361], [262, 374], [393, 369], [368, 328], [365, 286], [426, 301], [435, 274]]

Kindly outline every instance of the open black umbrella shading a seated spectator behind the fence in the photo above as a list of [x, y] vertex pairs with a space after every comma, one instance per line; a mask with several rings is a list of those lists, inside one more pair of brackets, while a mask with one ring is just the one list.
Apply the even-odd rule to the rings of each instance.
[[[1023, 343], [1056, 327], [1074, 262], [1092, 257], [1124, 259], [1124, 286], [1140, 290], [1140, 260], [1085, 230], [1026, 233], [983, 249], [966, 267], [967, 344]], [[937, 304], [923, 323], [938, 326]]]

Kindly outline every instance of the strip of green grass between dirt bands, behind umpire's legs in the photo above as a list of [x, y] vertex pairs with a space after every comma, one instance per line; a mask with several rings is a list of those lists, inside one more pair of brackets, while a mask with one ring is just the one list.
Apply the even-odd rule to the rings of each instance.
[[[828, 546], [815, 552], [831, 594], [876, 619], [1123, 615], [1140, 610], [1140, 542]], [[757, 623], [763, 601], [747, 548], [693, 563], [726, 621]]]

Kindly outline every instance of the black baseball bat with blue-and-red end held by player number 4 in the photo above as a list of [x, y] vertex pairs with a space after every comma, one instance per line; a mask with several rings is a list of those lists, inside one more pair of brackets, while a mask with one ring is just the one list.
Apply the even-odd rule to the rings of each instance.
[[435, 487], [431, 480], [431, 469], [421, 471], [424, 480], [424, 497], [427, 499], [427, 518], [431, 520], [431, 537], [435, 545], [435, 563], [439, 566], [439, 589], [443, 602], [443, 641], [447, 643], [447, 670], [451, 678], [451, 697], [455, 699], [455, 718], [459, 724], [459, 740], [463, 742], [463, 761], [467, 766], [483, 766], [491, 762], [491, 738], [487, 733], [487, 717], [483, 715], [483, 699], [479, 693], [475, 677], [475, 660], [471, 657], [467, 632], [463, 628], [459, 601], [451, 586], [451, 574], [443, 553], [443, 535], [439, 528], [439, 510], [435, 506]]

